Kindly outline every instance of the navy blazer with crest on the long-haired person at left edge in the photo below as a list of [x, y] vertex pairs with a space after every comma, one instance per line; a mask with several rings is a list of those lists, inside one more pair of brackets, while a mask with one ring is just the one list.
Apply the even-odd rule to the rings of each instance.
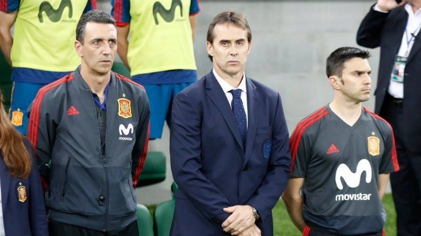
[[[32, 154], [31, 151], [29, 151]], [[33, 158], [33, 156], [32, 156]], [[7, 236], [45, 236], [48, 235], [45, 214], [44, 194], [40, 173], [35, 161], [27, 179], [10, 176], [3, 156], [0, 153], [0, 181], [2, 187], [2, 209]], [[27, 199], [19, 201], [17, 187], [22, 182], [26, 188]]]

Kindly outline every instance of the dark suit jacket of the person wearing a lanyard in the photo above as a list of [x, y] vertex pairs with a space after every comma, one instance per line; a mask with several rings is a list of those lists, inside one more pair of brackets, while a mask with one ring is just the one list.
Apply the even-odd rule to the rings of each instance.
[[[402, 36], [408, 21], [405, 7], [398, 7], [389, 13], [370, 9], [362, 20], [357, 33], [357, 43], [368, 48], [380, 46], [375, 112], [381, 115], [385, 95], [390, 84], [390, 75], [399, 51]], [[421, 34], [415, 37], [405, 67], [402, 139], [408, 152], [421, 154]]]

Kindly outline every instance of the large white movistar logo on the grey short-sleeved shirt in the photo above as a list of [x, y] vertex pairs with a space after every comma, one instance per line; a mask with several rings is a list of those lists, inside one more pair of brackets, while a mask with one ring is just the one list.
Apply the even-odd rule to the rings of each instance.
[[[361, 174], [366, 172], [366, 183], [369, 184], [372, 179], [371, 164], [367, 159], [362, 159], [357, 164], [357, 169], [354, 172], [346, 164], [340, 164], [336, 169], [335, 181], [339, 190], [343, 189], [342, 180], [350, 188], [356, 188], [360, 184]], [[371, 193], [354, 193], [354, 194], [338, 194], [335, 201], [367, 201], [370, 200]]]

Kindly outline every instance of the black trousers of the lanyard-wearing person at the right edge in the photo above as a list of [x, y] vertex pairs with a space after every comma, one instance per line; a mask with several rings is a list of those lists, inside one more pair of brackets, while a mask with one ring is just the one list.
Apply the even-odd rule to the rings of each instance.
[[399, 171], [390, 174], [396, 208], [397, 235], [421, 235], [421, 155], [407, 151], [403, 140], [403, 129], [406, 124], [402, 122], [402, 104], [390, 95], [386, 95], [380, 116], [393, 127], [400, 168]]

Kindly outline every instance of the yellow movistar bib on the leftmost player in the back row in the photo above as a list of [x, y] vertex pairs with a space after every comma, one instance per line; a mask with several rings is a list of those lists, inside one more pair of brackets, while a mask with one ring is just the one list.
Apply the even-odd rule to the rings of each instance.
[[21, 0], [11, 51], [13, 67], [54, 72], [78, 67], [81, 59], [74, 50], [75, 31], [86, 3]]

